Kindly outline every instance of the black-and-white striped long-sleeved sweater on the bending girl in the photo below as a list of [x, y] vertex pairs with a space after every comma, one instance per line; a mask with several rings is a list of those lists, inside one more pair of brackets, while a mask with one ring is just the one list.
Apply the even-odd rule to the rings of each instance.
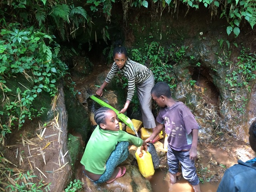
[[113, 63], [105, 81], [109, 83], [118, 71], [128, 79], [127, 100], [129, 101], [132, 101], [132, 97], [134, 96], [135, 84], [144, 82], [153, 74], [146, 66], [127, 58], [126, 64], [122, 69], [117, 67], [116, 62]]

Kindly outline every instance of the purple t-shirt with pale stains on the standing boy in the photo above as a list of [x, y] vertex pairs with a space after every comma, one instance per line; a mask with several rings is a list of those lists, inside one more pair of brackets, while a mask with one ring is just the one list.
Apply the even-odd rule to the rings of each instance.
[[192, 129], [198, 129], [198, 123], [184, 103], [176, 102], [169, 108], [161, 108], [156, 120], [164, 124], [168, 143], [174, 150], [181, 151], [191, 148]]

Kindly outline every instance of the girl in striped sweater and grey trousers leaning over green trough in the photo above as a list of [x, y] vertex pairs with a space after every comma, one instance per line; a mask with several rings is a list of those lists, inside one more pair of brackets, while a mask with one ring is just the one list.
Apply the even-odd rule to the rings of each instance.
[[[142, 122], [144, 128], [155, 128], [155, 118], [152, 114], [151, 103], [152, 97], [150, 94], [154, 86], [154, 75], [146, 66], [130, 60], [127, 57], [127, 50], [123, 46], [116, 46], [113, 51], [114, 63], [110, 72], [106, 76], [102, 86], [96, 91], [98, 96], [102, 96], [104, 87], [112, 80], [112, 78], [119, 71], [128, 79], [128, 93], [124, 108], [119, 113], [126, 112], [132, 97], [134, 96], [135, 86], [137, 88], [138, 99], [140, 101], [140, 108], [142, 113]], [[159, 136], [153, 142], [159, 140]]]

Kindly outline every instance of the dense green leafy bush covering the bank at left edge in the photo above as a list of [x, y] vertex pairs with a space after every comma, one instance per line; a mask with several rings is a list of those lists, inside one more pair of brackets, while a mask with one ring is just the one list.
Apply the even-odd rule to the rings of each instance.
[[[6, 101], [2, 115], [9, 117], [8, 122], [2, 122], [2, 141], [2, 136], [11, 132], [14, 122], [18, 122], [20, 128], [26, 118], [32, 120], [44, 112], [44, 107], [33, 108], [34, 100], [42, 91], [54, 96], [57, 93], [55, 84], [68, 68], [57, 57], [60, 46], [53, 41], [53, 36], [33, 27], [22, 29], [18, 23], [8, 24], [0, 36], [0, 89]], [[10, 87], [9, 78], [20, 75], [25, 76], [32, 88], [21, 83], [19, 88]]]

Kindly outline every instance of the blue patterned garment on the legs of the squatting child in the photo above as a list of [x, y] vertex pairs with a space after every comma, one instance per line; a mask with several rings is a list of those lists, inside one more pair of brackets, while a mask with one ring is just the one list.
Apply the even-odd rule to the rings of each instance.
[[129, 142], [127, 141], [120, 142], [116, 145], [116, 149], [112, 151], [106, 162], [105, 172], [102, 174], [102, 176], [100, 176], [100, 178], [97, 181], [93, 182], [104, 183], [110, 179], [110, 177], [114, 173], [115, 168], [128, 157], [128, 146]]

